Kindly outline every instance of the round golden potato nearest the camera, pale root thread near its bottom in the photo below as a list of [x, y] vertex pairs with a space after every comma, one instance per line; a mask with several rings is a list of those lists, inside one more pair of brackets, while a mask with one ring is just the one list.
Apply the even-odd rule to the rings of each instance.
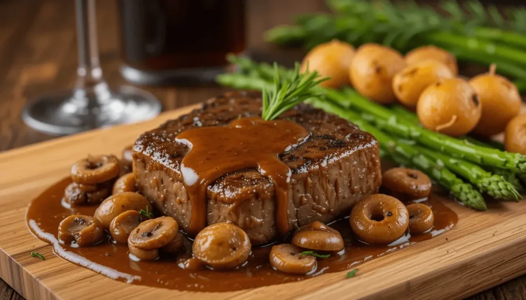
[[427, 129], [458, 137], [477, 125], [482, 105], [466, 80], [441, 79], [424, 89], [418, 100], [417, 115]]

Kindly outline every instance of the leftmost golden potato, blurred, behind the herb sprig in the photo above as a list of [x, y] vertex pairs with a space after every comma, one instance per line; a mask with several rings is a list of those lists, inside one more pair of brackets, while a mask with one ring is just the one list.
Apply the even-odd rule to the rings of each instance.
[[349, 85], [348, 69], [354, 55], [354, 47], [333, 39], [312, 48], [301, 62], [301, 71], [307, 70], [308, 63], [310, 71], [316, 70], [321, 77], [330, 77], [329, 80], [322, 81], [320, 86], [338, 89]]

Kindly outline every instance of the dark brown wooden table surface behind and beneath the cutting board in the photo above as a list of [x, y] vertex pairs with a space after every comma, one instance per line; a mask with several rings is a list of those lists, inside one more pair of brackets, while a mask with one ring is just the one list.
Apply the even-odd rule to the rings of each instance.
[[[25, 126], [21, 111], [27, 99], [74, 85], [77, 56], [73, 3], [0, 0], [0, 151], [53, 138]], [[99, 0], [97, 5], [104, 77], [110, 85], [122, 84], [124, 80], [118, 72], [116, 3]], [[324, 9], [322, 0], [247, 0], [248, 45], [262, 46], [261, 33], [274, 25], [288, 23], [291, 15]], [[164, 110], [203, 101], [225, 90], [217, 86], [144, 88], [159, 98]], [[524, 298], [526, 276], [470, 299]], [[0, 280], [0, 299], [23, 297]]]

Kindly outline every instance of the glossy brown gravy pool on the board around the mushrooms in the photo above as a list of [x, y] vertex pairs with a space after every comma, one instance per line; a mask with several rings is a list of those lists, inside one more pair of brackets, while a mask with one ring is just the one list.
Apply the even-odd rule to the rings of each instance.
[[[84, 266], [114, 280], [131, 284], [179, 289], [184, 291], [224, 292], [301, 281], [323, 273], [349, 270], [375, 257], [397, 251], [409, 245], [441, 234], [457, 223], [457, 215], [443, 205], [439, 196], [432, 195], [423, 202], [434, 212], [434, 226], [431, 231], [420, 235], [405, 235], [388, 246], [371, 246], [353, 238], [348, 218], [330, 224], [345, 240], [346, 249], [330, 258], [319, 259], [314, 274], [291, 275], [272, 269], [268, 256], [271, 246], [254, 247], [248, 262], [233, 270], [190, 271], [178, 266], [176, 257], [161, 257], [153, 262], [135, 262], [128, 257], [125, 244], [104, 242], [91, 247], [72, 247], [57, 240], [58, 224], [71, 214], [93, 215], [96, 206], [75, 209], [62, 204], [64, 189], [71, 182], [64, 179], [34, 199], [27, 211], [26, 220], [31, 231], [41, 240], [53, 245], [54, 252], [65, 260]], [[191, 241], [185, 237], [186, 253], [190, 256]]]

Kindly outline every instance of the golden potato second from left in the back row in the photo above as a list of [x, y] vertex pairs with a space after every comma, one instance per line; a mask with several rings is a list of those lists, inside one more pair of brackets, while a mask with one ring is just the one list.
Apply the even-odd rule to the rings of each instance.
[[362, 95], [381, 104], [396, 100], [392, 89], [395, 75], [406, 66], [400, 53], [377, 44], [362, 45], [352, 58], [349, 76]]

